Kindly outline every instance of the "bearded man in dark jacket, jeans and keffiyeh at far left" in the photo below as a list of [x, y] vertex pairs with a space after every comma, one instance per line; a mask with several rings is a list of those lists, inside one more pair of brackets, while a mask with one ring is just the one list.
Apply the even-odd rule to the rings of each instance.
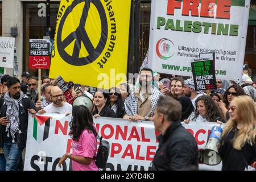
[[0, 99], [0, 147], [6, 158], [6, 171], [18, 169], [27, 141], [28, 111], [35, 114], [35, 104], [20, 91], [18, 78], [7, 81], [8, 92]]

